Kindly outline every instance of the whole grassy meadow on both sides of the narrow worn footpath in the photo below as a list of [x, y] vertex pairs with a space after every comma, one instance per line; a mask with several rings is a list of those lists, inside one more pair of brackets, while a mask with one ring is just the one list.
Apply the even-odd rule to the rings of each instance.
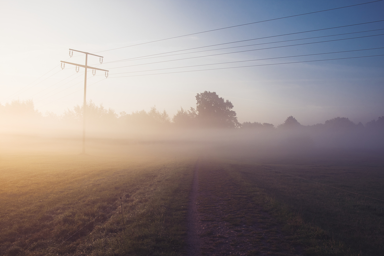
[[382, 201], [265, 168], [383, 200], [377, 159], [3, 154], [0, 254], [187, 254], [198, 164], [203, 255], [381, 255]]

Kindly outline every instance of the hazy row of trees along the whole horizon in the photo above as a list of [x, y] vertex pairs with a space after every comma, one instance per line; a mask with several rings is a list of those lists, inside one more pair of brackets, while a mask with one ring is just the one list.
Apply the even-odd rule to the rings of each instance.
[[[114, 109], [106, 109], [103, 104], [99, 106], [94, 102], [87, 102], [86, 120], [88, 123], [104, 124], [106, 126], [121, 124], [126, 126], [147, 126], [147, 127], [179, 127], [179, 128], [227, 128], [244, 130], [361, 130], [361, 129], [384, 129], [384, 116], [377, 120], [367, 122], [365, 126], [359, 122], [355, 124], [347, 117], [335, 117], [325, 121], [324, 124], [313, 126], [301, 125], [295, 117], [289, 116], [283, 124], [275, 127], [273, 124], [260, 122], [243, 122], [237, 120], [236, 112], [233, 111], [233, 104], [229, 100], [219, 97], [216, 92], [204, 91], [196, 96], [196, 107], [180, 109], [172, 117], [167, 112], [159, 111], [156, 106], [149, 111], [136, 111], [131, 114], [120, 112], [116, 114]], [[45, 117], [35, 109], [32, 100], [14, 100], [0, 104], [0, 116], [13, 116], [21, 119], [40, 118], [58, 122], [81, 122], [83, 117], [83, 106], [76, 105], [73, 109], [67, 109], [61, 116], [53, 112], [46, 112]]]

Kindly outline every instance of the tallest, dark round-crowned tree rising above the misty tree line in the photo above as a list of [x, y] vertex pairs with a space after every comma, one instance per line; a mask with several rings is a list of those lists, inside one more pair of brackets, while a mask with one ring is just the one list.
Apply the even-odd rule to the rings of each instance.
[[233, 104], [216, 92], [204, 91], [196, 95], [197, 121], [205, 127], [236, 128], [240, 124], [237, 121], [236, 112], [231, 110]]

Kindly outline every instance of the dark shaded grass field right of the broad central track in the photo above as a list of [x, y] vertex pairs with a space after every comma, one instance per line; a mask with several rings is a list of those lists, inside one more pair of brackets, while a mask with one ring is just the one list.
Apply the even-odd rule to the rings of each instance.
[[[294, 213], [300, 216], [303, 224], [322, 230], [325, 240], [340, 241], [343, 250], [349, 248], [344, 252], [338, 252], [339, 249], [334, 248], [331, 250], [333, 254], [382, 254], [383, 201], [319, 185], [264, 167], [384, 200], [382, 160], [349, 157], [338, 160], [285, 159], [264, 161], [261, 165], [253, 162], [240, 167], [238, 164], [232, 165], [232, 170], [249, 186], [262, 191], [275, 204], [280, 205], [280, 215], [288, 215], [283, 211]], [[313, 250], [313, 253], [318, 253], [321, 244]]]

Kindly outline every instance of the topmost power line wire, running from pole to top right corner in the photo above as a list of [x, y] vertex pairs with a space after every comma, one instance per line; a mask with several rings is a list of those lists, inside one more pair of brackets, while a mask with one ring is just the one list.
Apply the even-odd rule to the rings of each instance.
[[[165, 39], [149, 41], [149, 42], [146, 42], [146, 43], [139, 43], [139, 44], [136, 44], [136, 45], [144, 45], [144, 44], [147, 44], [147, 43], [154, 43], [154, 42], [159, 42], [159, 41], [164, 41], [164, 40], [169, 40], [169, 39], [174, 39], [174, 38], [180, 38], [180, 37], [183, 37], [183, 36], [197, 35], [197, 34], [201, 34], [201, 33], [207, 33], [207, 32], [212, 32], [212, 31], [217, 31], [217, 30], [223, 30], [223, 29], [227, 29], [227, 28], [235, 28], [235, 27], [239, 27], [239, 26], [251, 25], [251, 24], [256, 24], [256, 23], [261, 23], [261, 22], [266, 22], [266, 21], [281, 20], [281, 19], [285, 19], [285, 18], [298, 17], [298, 16], [302, 16], [302, 15], [307, 15], [307, 14], [313, 14], [313, 13], [319, 13], [319, 12], [327, 12], [327, 11], [331, 11], [331, 10], [338, 10], [338, 9], [342, 9], [342, 8], [353, 7], [353, 6], [358, 6], [358, 5], [365, 5], [367, 3], [375, 3], [375, 2], [381, 2], [381, 1], [383, 1], [383, 0], [376, 0], [376, 1], [372, 1], [372, 2], [366, 2], [366, 3], [359, 3], [359, 4], [356, 4], [356, 5], [348, 5], [348, 6], [332, 8], [332, 9], [327, 9], [327, 10], [321, 10], [321, 11], [316, 11], [316, 12], [308, 12], [308, 13], [302, 13], [302, 14], [297, 14], [297, 15], [290, 15], [290, 16], [286, 16], [286, 17], [274, 18], [274, 19], [270, 19], [270, 20], [256, 21], [256, 22], [251, 22], [251, 23], [246, 23], [246, 24], [241, 24], [241, 25], [228, 26], [228, 27], [225, 27], [225, 28], [217, 28], [217, 29], [213, 29], [213, 30], [206, 30], [206, 31], [192, 33], [192, 34], [187, 34], [187, 35], [182, 35], [182, 36], [174, 36], [174, 37], [169, 37], [169, 38], [165, 38]], [[112, 50], [127, 48], [127, 47], [131, 47], [131, 46], [136, 46], [136, 45], [128, 45], [128, 46], [123, 46], [123, 47], [109, 49], [109, 50], [104, 50], [104, 51], [112, 51]], [[98, 51], [96, 53], [101, 53], [101, 52], [104, 52], [104, 51]]]

